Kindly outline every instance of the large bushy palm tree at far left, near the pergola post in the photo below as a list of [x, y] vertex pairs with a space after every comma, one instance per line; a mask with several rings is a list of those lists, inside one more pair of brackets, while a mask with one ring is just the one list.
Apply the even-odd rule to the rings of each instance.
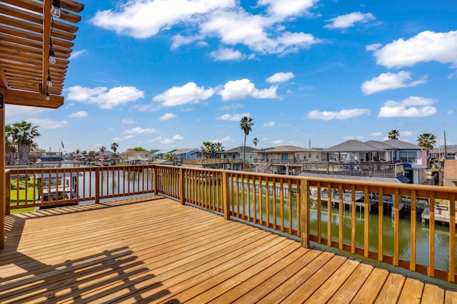
[[19, 165], [29, 165], [29, 154], [32, 147], [36, 147], [35, 137], [39, 137], [38, 126], [32, 126], [31, 122], [14, 122], [7, 127], [11, 140], [17, 145], [19, 152]]

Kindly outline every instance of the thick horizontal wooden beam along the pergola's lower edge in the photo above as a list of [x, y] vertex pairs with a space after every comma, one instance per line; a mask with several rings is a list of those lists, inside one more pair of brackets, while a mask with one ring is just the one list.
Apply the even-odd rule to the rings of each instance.
[[46, 100], [46, 94], [43, 93], [6, 90], [4, 88], [0, 88], [0, 94], [3, 95], [4, 103], [8, 105], [56, 109], [64, 104], [64, 96], [50, 95], [51, 100]]

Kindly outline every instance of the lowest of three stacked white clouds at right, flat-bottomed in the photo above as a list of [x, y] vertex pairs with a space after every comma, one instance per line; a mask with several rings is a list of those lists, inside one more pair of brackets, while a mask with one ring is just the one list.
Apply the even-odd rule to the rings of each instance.
[[426, 117], [435, 115], [437, 110], [431, 106], [435, 100], [411, 96], [400, 102], [388, 100], [379, 110], [378, 117]]

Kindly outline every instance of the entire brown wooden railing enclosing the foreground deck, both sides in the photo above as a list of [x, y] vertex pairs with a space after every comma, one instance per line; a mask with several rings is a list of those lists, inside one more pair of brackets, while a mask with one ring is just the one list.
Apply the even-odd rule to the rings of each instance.
[[[77, 187], [74, 190], [77, 197], [38, 203], [35, 195], [31, 199], [25, 196], [25, 204], [13, 199], [13, 196], [19, 196], [16, 189], [24, 188], [24, 181], [29, 185], [26, 189], [34, 187], [35, 192], [39, 191], [35, 182], [39, 179], [37, 174], [41, 174], [41, 178], [44, 174], [56, 174], [56, 177], [61, 174], [61, 178], [76, 174]], [[457, 188], [161, 165], [18, 169], [10, 170], [7, 176], [11, 181], [9, 187], [16, 183], [16, 189], [11, 190], [11, 197], [7, 198], [8, 202], [11, 200], [11, 208], [85, 200], [97, 202], [103, 198], [154, 192], [174, 198], [181, 204], [194, 204], [215, 211], [226, 219], [240, 219], [281, 231], [300, 239], [305, 247], [316, 242], [373, 261], [456, 282]], [[429, 208], [429, 222], [423, 226], [417, 209], [419, 204], [426, 204]], [[436, 204], [448, 208], [451, 224], [446, 229], [438, 224]], [[410, 211], [401, 217], [401, 211], [405, 212], [406, 207]], [[423, 229], [426, 229], [425, 246], [417, 234]]]

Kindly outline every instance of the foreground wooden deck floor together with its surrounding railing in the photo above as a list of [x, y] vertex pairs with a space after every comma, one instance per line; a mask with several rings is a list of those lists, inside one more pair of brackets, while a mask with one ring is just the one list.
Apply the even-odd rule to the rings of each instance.
[[[456, 226], [435, 226], [433, 213], [446, 201], [456, 221], [454, 188], [159, 165], [14, 169], [6, 176], [7, 213], [40, 210], [6, 216], [1, 303], [457, 301], [456, 240], [448, 238], [447, 252], [435, 241], [446, 239], [446, 230], [455, 236]], [[37, 201], [46, 184], [66, 184], [76, 198]], [[340, 201], [330, 212], [324, 190], [351, 193], [351, 209]], [[377, 221], [361, 221], [373, 217], [373, 193], [379, 201], [393, 194], [391, 224], [383, 224], [384, 204]], [[412, 232], [400, 226], [402, 197], [411, 204]], [[415, 232], [424, 229], [416, 227], [416, 203], [424, 199], [431, 211], [425, 249]], [[57, 205], [68, 206], [46, 209]], [[395, 271], [401, 268], [408, 276]]]

